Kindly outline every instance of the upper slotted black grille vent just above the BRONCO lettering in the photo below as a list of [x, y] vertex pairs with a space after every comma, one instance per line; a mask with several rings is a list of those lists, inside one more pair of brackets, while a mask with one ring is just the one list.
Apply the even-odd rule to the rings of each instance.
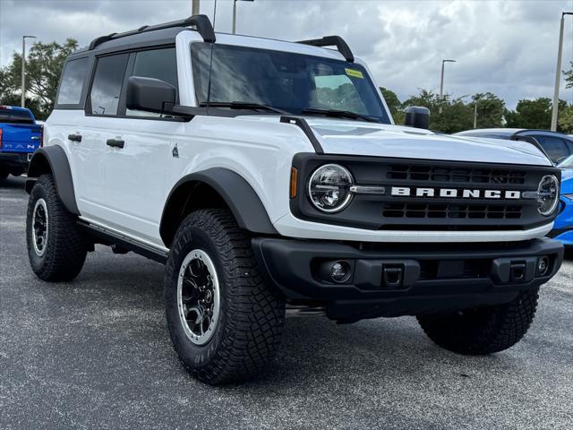
[[458, 182], [462, 184], [509, 184], [526, 183], [526, 172], [492, 168], [450, 168], [392, 164], [386, 172], [388, 179], [426, 182]]

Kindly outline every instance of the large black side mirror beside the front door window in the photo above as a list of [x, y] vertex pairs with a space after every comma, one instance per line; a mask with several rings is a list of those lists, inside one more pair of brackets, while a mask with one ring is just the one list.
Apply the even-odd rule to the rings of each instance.
[[131, 110], [165, 113], [175, 106], [175, 88], [154, 78], [132, 76], [127, 80], [125, 105]]

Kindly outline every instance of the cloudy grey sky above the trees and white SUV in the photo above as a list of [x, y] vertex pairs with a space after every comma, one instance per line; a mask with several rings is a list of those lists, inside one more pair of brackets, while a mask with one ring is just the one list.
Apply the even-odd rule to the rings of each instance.
[[[0, 0], [0, 65], [21, 49], [22, 34], [81, 45], [99, 35], [191, 14], [191, 0]], [[233, 2], [218, 0], [217, 31], [231, 30]], [[552, 97], [559, 23], [573, 0], [255, 0], [238, 4], [237, 32], [272, 39], [338, 34], [371, 67], [375, 80], [400, 99], [418, 88], [454, 96], [492, 91], [515, 107], [519, 99]], [[213, 17], [213, 0], [201, 0]], [[573, 60], [573, 16], [565, 22], [563, 64]], [[573, 90], [561, 84], [561, 99]]]

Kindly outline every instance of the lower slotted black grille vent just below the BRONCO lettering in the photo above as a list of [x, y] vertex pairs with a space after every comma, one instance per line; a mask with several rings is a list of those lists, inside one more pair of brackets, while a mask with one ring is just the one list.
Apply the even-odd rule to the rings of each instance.
[[520, 205], [457, 203], [384, 203], [384, 218], [520, 219]]

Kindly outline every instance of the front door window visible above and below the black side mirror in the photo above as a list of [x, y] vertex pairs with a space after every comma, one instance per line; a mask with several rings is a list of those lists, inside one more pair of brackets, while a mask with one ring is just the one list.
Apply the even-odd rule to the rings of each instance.
[[[141, 51], [135, 54], [132, 76], [142, 78], [155, 78], [167, 82], [177, 90], [177, 61], [175, 47]], [[177, 91], [178, 93], [178, 91]], [[126, 115], [132, 116], [160, 116], [152, 112], [141, 110], [126, 110]]]

